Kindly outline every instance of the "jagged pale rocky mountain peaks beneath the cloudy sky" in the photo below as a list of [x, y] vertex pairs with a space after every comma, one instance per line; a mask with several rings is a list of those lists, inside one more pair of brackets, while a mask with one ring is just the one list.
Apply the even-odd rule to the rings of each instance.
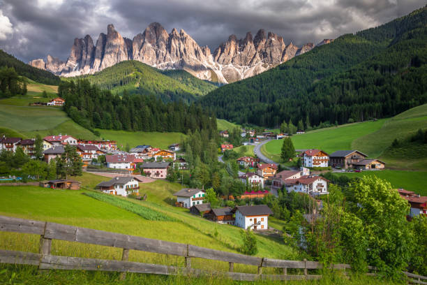
[[[330, 43], [324, 40], [318, 45]], [[186, 31], [172, 29], [170, 34], [158, 23], [149, 24], [133, 40], [123, 38], [112, 24], [107, 34], [101, 33], [96, 44], [91, 36], [75, 38], [66, 61], [47, 55], [34, 59], [31, 66], [61, 76], [93, 74], [121, 61], [136, 60], [159, 69], [183, 69], [202, 80], [229, 83], [249, 78], [277, 66], [299, 54], [312, 50], [315, 45], [301, 47], [260, 29], [255, 37], [248, 32], [245, 38], [231, 35], [211, 53], [209, 47], [200, 47]]]

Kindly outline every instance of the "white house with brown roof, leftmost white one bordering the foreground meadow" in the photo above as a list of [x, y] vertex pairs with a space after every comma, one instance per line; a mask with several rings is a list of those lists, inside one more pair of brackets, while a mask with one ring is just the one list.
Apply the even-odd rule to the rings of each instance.
[[96, 188], [104, 193], [127, 197], [130, 194], [139, 195], [142, 180], [137, 177], [114, 177], [110, 181], [100, 182]]

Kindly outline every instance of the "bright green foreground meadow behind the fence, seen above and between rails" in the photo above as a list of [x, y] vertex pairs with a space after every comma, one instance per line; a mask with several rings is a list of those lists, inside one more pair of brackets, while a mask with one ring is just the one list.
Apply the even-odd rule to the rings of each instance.
[[[100, 180], [107, 180], [105, 177], [87, 173], [84, 173], [83, 177], [73, 178], [82, 181], [82, 186], [89, 188]], [[147, 201], [117, 198], [135, 203], [136, 206], [147, 207], [151, 211], [167, 214], [175, 221], [150, 221], [109, 203], [82, 195], [82, 191], [40, 187], [0, 187], [0, 214], [237, 252], [241, 244], [239, 228], [216, 224], [189, 214], [186, 209], [173, 207], [171, 205], [172, 193], [179, 189], [181, 189], [179, 184], [157, 181], [140, 184], [140, 193], [147, 193]], [[286, 246], [278, 238], [257, 235], [257, 244], [258, 256], [289, 259], [299, 257], [297, 251]], [[36, 252], [38, 237], [36, 235], [0, 233], [0, 247], [1, 249]], [[52, 251], [59, 255], [110, 259], [120, 258], [121, 254], [119, 249], [110, 247], [57, 240], [54, 240], [52, 244]], [[183, 263], [183, 258], [139, 251], [131, 251], [130, 260], [171, 265], [182, 265]], [[227, 264], [215, 261], [195, 259], [192, 261], [192, 265], [195, 268], [207, 268], [208, 266], [212, 269], [227, 270]], [[244, 272], [256, 272], [256, 268], [252, 266], [237, 265], [237, 268], [236, 270]]]

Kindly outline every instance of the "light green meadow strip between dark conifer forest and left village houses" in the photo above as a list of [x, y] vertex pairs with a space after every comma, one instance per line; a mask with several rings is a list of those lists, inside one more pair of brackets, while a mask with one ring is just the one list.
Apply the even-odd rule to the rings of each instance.
[[130, 148], [137, 145], [151, 145], [153, 147], [167, 149], [169, 145], [181, 142], [182, 138], [186, 136], [183, 133], [97, 130], [100, 132], [101, 138], [105, 140], [116, 140], [118, 147], [121, 147], [121, 145], [126, 147], [126, 143], [128, 143]]

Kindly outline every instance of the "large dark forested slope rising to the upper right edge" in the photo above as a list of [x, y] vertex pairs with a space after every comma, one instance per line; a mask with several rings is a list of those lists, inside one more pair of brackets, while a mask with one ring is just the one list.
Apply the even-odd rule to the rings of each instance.
[[303, 119], [344, 124], [427, 102], [427, 8], [340, 36], [270, 71], [201, 99], [217, 117], [278, 126]]

